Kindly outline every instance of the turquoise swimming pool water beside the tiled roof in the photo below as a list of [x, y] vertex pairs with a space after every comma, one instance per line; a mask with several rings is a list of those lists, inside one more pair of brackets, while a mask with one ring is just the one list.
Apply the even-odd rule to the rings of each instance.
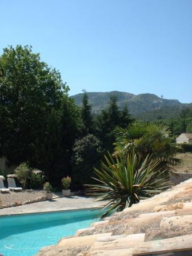
[[0, 254], [32, 256], [62, 237], [97, 221], [98, 211], [75, 210], [59, 213], [25, 214], [0, 217]]

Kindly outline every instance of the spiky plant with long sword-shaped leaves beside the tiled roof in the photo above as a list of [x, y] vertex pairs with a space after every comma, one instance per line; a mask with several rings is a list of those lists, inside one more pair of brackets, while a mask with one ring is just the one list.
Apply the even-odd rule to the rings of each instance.
[[134, 151], [125, 159], [120, 155], [113, 157], [109, 153], [106, 163], [101, 163], [101, 170], [95, 169], [99, 185], [88, 185], [98, 198], [107, 201], [102, 207], [101, 218], [138, 203], [170, 187], [171, 183], [160, 177], [159, 161], [151, 160], [149, 155], [141, 161]]

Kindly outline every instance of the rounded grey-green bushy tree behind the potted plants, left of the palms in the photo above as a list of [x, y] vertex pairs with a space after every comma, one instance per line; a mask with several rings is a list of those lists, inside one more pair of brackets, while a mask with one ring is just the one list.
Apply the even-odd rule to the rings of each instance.
[[92, 181], [93, 167], [99, 166], [103, 154], [101, 142], [88, 134], [74, 143], [72, 155], [72, 182], [74, 189], [82, 189]]

